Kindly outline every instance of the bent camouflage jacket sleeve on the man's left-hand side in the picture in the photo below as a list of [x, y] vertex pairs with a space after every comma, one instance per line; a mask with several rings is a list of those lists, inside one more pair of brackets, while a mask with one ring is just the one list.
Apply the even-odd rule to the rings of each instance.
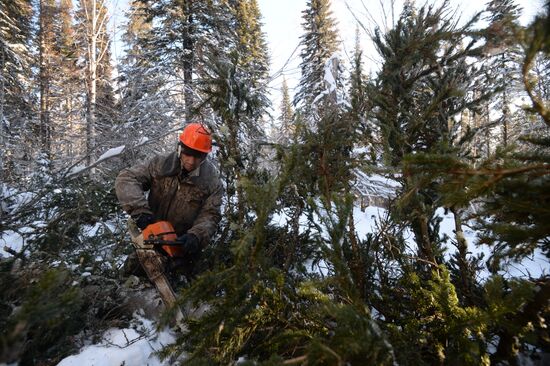
[[117, 198], [130, 216], [140, 213], [150, 213], [151, 208], [145, 197], [145, 192], [151, 188], [154, 175], [155, 160], [123, 169], [115, 181]]

